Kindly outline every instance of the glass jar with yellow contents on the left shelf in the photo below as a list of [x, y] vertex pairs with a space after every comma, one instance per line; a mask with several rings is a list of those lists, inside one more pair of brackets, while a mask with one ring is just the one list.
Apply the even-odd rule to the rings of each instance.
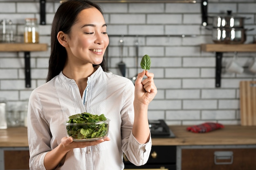
[[26, 19], [24, 43], [39, 43], [38, 24], [36, 18]]

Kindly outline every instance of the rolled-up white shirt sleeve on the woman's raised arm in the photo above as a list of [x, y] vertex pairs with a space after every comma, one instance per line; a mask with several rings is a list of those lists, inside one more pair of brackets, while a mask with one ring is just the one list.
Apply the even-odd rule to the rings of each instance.
[[149, 158], [152, 141], [150, 139], [146, 144], [140, 144], [132, 134], [132, 125], [134, 122], [134, 85], [127, 83], [127, 90], [124, 92], [124, 107], [121, 111], [122, 118], [122, 150], [131, 163], [136, 166], [144, 165]]

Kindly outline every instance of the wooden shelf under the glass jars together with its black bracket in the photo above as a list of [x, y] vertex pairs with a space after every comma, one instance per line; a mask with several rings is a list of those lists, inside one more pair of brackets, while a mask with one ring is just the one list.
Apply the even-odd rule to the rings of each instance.
[[0, 43], [0, 52], [24, 52], [25, 87], [31, 87], [30, 52], [47, 51], [47, 44]]

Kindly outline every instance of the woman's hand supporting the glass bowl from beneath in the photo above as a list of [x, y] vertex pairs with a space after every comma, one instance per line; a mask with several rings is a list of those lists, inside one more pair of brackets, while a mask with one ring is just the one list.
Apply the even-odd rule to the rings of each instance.
[[68, 152], [74, 148], [85, 148], [86, 146], [94, 146], [109, 140], [110, 140], [109, 137], [105, 137], [103, 139], [94, 140], [94, 141], [75, 142], [73, 141], [72, 137], [63, 137], [61, 139], [61, 145], [66, 150], [66, 152]]

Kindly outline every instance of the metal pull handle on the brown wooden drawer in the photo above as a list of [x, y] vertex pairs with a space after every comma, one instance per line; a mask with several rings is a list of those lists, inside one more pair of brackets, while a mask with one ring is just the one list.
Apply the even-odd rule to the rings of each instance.
[[[227, 160], [229, 159], [229, 162], [222, 162], [217, 160]], [[233, 152], [232, 151], [215, 151], [214, 152], [214, 163], [216, 165], [227, 165], [233, 163]]]

